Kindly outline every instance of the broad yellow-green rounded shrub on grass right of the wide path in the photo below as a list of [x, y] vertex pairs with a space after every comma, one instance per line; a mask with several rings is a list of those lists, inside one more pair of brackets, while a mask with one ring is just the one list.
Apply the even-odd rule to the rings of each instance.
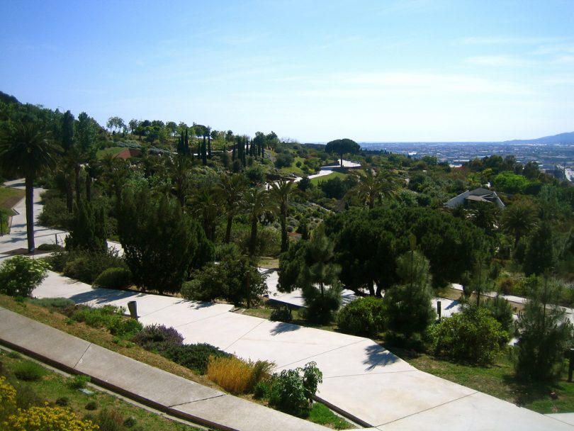
[[432, 325], [434, 353], [456, 361], [490, 364], [509, 341], [485, 308], [466, 308]]

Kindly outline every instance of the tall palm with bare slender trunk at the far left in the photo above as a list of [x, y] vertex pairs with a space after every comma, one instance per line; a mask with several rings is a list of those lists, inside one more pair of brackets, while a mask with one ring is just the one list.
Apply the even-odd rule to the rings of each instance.
[[0, 167], [4, 172], [26, 178], [26, 236], [28, 252], [34, 244], [34, 180], [56, 166], [62, 149], [40, 123], [17, 123], [0, 140]]

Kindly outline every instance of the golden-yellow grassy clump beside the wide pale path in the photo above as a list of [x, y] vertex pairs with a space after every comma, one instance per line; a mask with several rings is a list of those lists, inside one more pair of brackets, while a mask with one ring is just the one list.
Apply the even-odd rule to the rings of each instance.
[[207, 375], [211, 381], [230, 393], [249, 393], [261, 379], [269, 379], [274, 364], [266, 361], [244, 361], [235, 356], [210, 357]]

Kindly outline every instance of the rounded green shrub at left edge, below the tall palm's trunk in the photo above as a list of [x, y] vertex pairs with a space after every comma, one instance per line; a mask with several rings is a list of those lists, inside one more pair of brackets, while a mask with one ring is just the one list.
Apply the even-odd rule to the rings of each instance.
[[0, 293], [30, 296], [47, 276], [50, 266], [42, 259], [14, 256], [0, 264]]

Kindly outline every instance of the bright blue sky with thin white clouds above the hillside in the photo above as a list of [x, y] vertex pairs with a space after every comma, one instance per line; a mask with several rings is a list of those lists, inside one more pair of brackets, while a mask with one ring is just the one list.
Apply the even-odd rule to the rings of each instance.
[[326, 142], [574, 130], [574, 1], [0, 0], [0, 90]]

